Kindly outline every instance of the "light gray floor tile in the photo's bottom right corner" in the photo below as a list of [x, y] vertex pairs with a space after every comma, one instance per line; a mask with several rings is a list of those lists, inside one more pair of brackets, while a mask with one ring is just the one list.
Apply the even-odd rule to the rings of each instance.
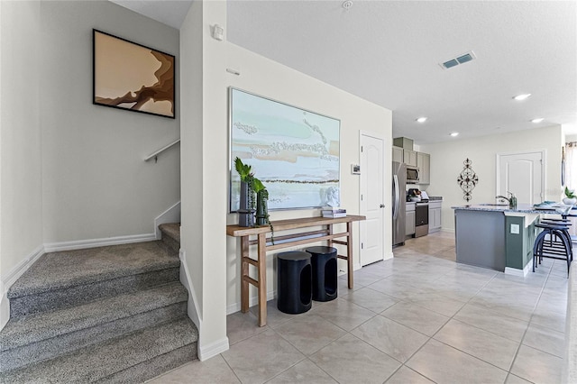
[[535, 383], [559, 383], [562, 367], [563, 359], [521, 345], [511, 373]]

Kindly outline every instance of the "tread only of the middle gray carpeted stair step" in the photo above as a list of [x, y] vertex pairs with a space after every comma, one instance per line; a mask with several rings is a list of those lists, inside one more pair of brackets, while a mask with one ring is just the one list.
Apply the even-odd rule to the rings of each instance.
[[186, 302], [187, 299], [187, 289], [179, 282], [172, 282], [81, 306], [11, 319], [0, 331], [0, 352]]

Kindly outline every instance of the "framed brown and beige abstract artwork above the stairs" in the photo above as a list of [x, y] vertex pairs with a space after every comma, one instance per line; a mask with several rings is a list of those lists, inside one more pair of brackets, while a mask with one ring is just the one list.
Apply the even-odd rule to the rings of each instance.
[[93, 104], [175, 118], [175, 59], [92, 30]]

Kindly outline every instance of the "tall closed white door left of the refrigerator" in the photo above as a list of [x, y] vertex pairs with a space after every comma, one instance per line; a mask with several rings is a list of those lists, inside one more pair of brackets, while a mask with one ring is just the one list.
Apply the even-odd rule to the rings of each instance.
[[361, 265], [384, 259], [383, 140], [361, 134]]

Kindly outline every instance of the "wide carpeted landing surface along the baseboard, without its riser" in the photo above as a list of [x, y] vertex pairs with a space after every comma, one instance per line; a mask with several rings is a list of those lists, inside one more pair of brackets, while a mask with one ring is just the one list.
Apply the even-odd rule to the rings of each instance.
[[8, 289], [8, 298], [39, 294], [136, 273], [178, 268], [176, 253], [160, 242], [138, 242], [46, 253]]

